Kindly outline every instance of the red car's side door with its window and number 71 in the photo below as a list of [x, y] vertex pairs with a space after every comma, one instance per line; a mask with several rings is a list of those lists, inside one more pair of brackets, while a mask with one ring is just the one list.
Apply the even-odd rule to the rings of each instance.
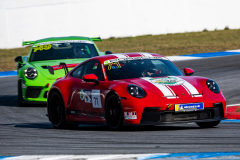
[[[95, 74], [99, 84], [85, 82], [82, 76]], [[100, 62], [89, 61], [72, 73], [72, 97], [68, 113], [73, 121], [105, 122], [104, 118], [104, 78]]]

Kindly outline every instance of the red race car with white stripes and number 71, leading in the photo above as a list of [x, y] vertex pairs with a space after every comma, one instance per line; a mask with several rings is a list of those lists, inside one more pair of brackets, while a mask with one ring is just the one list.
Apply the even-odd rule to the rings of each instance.
[[177, 122], [217, 126], [226, 119], [226, 100], [215, 81], [193, 73], [153, 53], [94, 57], [52, 85], [48, 117], [54, 128], [80, 123], [103, 123], [113, 130]]

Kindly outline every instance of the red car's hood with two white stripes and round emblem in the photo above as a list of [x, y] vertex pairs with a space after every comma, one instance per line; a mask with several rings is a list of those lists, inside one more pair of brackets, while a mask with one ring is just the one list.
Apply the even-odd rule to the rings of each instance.
[[197, 77], [166, 76], [127, 79], [126, 82], [136, 84], [162, 97], [180, 98], [188, 96], [201, 97], [203, 88]]

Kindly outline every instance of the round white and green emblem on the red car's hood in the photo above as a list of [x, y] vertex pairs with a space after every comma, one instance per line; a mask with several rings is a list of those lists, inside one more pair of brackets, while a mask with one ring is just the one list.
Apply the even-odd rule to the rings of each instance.
[[152, 83], [158, 83], [162, 85], [168, 85], [168, 86], [177, 86], [182, 85], [184, 83], [183, 79], [179, 79], [177, 77], [164, 77], [164, 78], [151, 78], [149, 79], [152, 81]]

